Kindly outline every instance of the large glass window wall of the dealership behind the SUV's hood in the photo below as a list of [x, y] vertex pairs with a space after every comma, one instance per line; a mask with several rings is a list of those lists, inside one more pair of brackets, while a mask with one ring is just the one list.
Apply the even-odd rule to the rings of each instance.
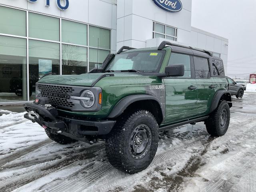
[[0, 104], [34, 100], [45, 74], [83, 74], [110, 54], [111, 30], [82, 22], [0, 6], [0, 26]]

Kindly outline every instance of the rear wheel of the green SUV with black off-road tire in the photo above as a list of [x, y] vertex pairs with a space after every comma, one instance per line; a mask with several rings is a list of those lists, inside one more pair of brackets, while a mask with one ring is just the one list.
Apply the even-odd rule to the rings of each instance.
[[[226, 120], [225, 123], [223, 123], [223, 114], [226, 113]], [[208, 120], [205, 121], [206, 130], [211, 136], [223, 136], [226, 134], [228, 130], [230, 122], [230, 108], [228, 106], [228, 102], [225, 100], [220, 101], [218, 107], [212, 114], [210, 114], [210, 117]], [[223, 123], [223, 125], [222, 125]]]

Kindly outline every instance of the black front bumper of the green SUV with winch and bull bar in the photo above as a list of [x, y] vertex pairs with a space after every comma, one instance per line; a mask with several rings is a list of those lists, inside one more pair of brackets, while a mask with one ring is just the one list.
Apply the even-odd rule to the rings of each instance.
[[116, 123], [114, 120], [82, 120], [54, 116], [47, 107], [40, 104], [26, 103], [24, 108], [28, 112], [24, 114], [24, 118], [37, 122], [43, 128], [48, 128], [56, 134], [59, 133], [69, 137], [71, 135], [76, 139], [84, 138], [86, 135], [106, 135]]

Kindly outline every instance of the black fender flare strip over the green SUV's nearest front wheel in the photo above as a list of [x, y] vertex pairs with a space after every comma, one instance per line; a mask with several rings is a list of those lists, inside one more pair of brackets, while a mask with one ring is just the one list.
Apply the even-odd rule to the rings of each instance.
[[161, 107], [161, 102], [160, 100], [158, 100], [158, 98], [151, 96], [151, 95], [145, 95], [145, 94], [138, 94], [138, 95], [130, 95], [127, 96], [125, 98], [123, 98], [122, 100], [120, 100], [116, 106], [112, 109], [112, 111], [110, 112], [110, 114], [108, 115], [108, 118], [117, 118], [118, 116], [120, 116], [122, 114], [122, 112], [124, 112], [124, 110], [132, 103], [136, 102], [136, 101], [143, 101], [143, 100], [155, 100], [156, 102], [158, 102], [161, 111], [162, 111], [162, 117], [164, 120], [164, 116], [165, 116], [165, 111], [164, 109]]

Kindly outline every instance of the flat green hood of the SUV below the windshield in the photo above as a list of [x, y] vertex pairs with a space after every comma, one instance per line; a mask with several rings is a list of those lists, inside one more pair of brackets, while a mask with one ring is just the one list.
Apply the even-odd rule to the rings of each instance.
[[[40, 79], [38, 83], [50, 83], [60, 85], [74, 85], [74, 86], [92, 86], [94, 82], [104, 74], [114, 74], [114, 76], [142, 76], [134, 73], [86, 73], [81, 75], [48, 75]], [[112, 77], [108, 77], [112, 78]]]

